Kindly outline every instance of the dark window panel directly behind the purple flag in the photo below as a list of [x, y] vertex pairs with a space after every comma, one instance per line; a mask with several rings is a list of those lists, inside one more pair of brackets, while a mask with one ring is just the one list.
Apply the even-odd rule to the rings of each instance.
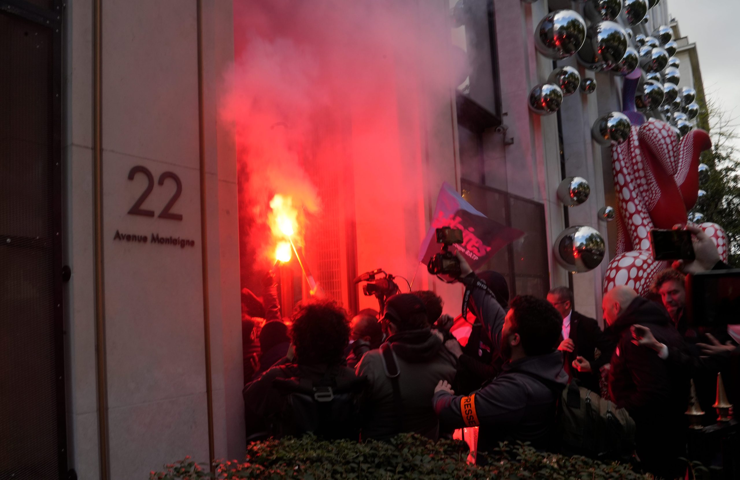
[[462, 180], [462, 197], [491, 220], [524, 231], [519, 240], [491, 257], [480, 270], [502, 274], [511, 296], [544, 298], [550, 290], [545, 206], [533, 200]]

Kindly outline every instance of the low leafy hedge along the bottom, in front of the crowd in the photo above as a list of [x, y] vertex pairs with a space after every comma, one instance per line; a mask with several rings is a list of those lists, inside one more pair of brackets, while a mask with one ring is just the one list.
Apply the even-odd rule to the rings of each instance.
[[[480, 455], [480, 454], [479, 454]], [[539, 453], [526, 444], [502, 444], [488, 465], [466, 462], [464, 442], [431, 442], [417, 435], [390, 443], [320, 442], [314, 437], [269, 440], [247, 447], [246, 462], [216, 462], [215, 473], [186, 458], [152, 472], [150, 480], [195, 479], [649, 479], [629, 465]]]

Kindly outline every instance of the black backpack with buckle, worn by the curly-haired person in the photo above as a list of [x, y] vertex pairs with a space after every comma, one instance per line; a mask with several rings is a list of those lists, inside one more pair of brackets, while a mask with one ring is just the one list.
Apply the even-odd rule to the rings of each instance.
[[313, 433], [324, 440], [359, 438], [359, 398], [365, 376], [337, 380], [343, 369], [327, 369], [320, 380], [303, 376], [275, 379], [272, 385], [284, 396], [283, 407], [272, 422], [272, 435], [300, 437]]

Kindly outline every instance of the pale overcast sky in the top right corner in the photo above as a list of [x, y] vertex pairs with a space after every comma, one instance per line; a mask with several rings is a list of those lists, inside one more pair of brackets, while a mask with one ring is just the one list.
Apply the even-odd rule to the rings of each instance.
[[[708, 99], [740, 124], [740, 0], [667, 1], [681, 35], [696, 43]], [[740, 148], [740, 141], [735, 144]]]

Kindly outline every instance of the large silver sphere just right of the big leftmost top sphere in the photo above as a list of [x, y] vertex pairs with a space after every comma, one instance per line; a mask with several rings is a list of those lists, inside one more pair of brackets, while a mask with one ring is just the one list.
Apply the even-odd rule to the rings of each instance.
[[628, 47], [627, 32], [614, 21], [599, 21], [591, 25], [586, 41], [578, 51], [579, 58], [587, 65], [611, 70], [625, 57]]

